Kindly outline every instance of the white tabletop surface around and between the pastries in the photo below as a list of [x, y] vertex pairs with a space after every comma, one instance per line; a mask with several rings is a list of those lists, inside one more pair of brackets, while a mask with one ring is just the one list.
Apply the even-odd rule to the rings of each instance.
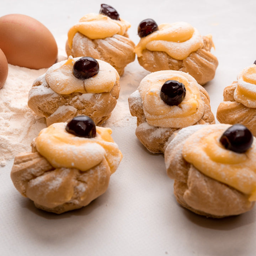
[[[69, 28], [83, 15], [97, 13], [101, 3], [115, 7], [131, 23], [128, 32], [135, 44], [137, 26], [145, 18], [158, 24], [185, 21], [202, 35], [212, 34], [219, 66], [214, 80], [204, 87], [214, 115], [224, 87], [256, 59], [255, 1], [8, 0], [1, 5], [0, 16], [20, 13], [36, 18], [53, 33], [61, 52]], [[256, 209], [207, 219], [181, 208], [163, 155], [150, 154], [138, 142], [127, 100], [148, 73], [136, 60], [120, 80], [113, 117], [120, 117], [123, 105], [126, 111], [119, 124], [110, 119], [106, 125], [113, 130], [123, 160], [107, 192], [89, 206], [62, 215], [38, 210], [12, 185], [12, 161], [0, 167], [0, 255], [256, 255]]]

